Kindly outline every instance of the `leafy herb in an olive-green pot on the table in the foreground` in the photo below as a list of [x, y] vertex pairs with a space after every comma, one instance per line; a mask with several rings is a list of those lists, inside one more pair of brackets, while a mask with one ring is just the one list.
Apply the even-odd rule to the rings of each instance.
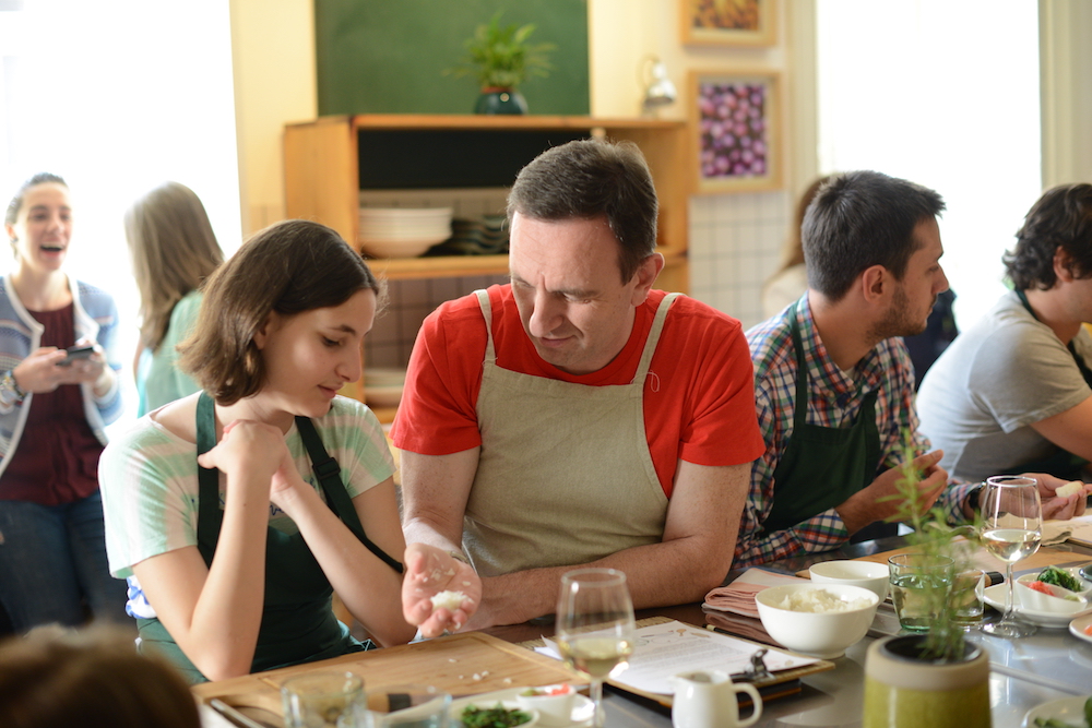
[[989, 660], [964, 639], [957, 619], [961, 594], [953, 593], [958, 575], [972, 566], [978, 529], [951, 527], [939, 509], [927, 506], [912, 461], [907, 449], [899, 494], [891, 497], [899, 501], [894, 520], [914, 528], [907, 536], [914, 553], [951, 561], [945, 577], [914, 584], [929, 613], [928, 631], [878, 640], [868, 648], [864, 727], [988, 728]]

